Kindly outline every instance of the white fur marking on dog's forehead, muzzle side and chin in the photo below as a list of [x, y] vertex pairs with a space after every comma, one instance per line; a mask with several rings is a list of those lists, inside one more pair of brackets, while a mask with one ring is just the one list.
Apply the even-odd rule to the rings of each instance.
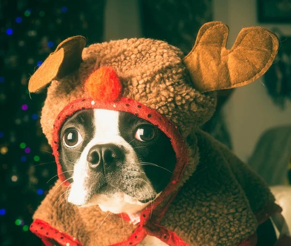
[[[106, 109], [94, 109], [95, 133], [94, 138], [87, 144], [83, 150], [80, 159], [74, 167], [73, 180], [71, 185], [68, 201], [76, 205], [84, 205], [87, 189], [85, 185], [85, 177], [87, 174], [87, 154], [89, 150], [97, 144], [114, 143], [122, 145], [129, 152], [126, 155], [126, 161], [129, 163], [138, 163], [138, 158], [131, 145], [120, 136], [118, 127], [119, 112]], [[146, 175], [143, 178], [149, 182]], [[150, 187], [151, 189], [153, 187]], [[85, 206], [98, 204], [103, 211], [112, 213], [136, 213], [142, 210], [148, 203], [143, 204], [125, 194], [114, 194], [113, 197], [104, 195], [94, 195], [93, 198], [85, 204]]]

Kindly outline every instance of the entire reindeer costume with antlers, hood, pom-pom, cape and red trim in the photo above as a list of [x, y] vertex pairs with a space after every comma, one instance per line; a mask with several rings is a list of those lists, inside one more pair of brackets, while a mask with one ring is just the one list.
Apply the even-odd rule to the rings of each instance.
[[[215, 109], [213, 91], [262, 76], [275, 58], [278, 41], [266, 29], [245, 28], [228, 50], [227, 35], [223, 23], [205, 24], [186, 57], [178, 48], [152, 39], [84, 48], [81, 36], [66, 39], [49, 55], [29, 83], [29, 91], [36, 92], [51, 82], [41, 124], [60, 180], [30, 227], [45, 245], [133, 246], [146, 235], [171, 246], [256, 245], [258, 225], [281, 209], [267, 185], [199, 126]], [[108, 66], [119, 80], [107, 79], [105, 87], [94, 84], [90, 75]], [[133, 113], [158, 125], [171, 139], [176, 168], [153, 209], [146, 207], [137, 225], [125, 214], [104, 220], [107, 213], [98, 206], [77, 208], [62, 202], [70, 183], [59, 164], [59, 129], [67, 117], [85, 108]]]

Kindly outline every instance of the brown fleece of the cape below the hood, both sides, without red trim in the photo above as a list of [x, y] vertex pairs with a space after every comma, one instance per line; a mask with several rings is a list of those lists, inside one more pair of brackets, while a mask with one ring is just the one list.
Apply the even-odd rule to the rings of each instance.
[[[207, 133], [197, 131], [188, 142], [192, 158], [181, 179], [182, 184], [186, 183], [160, 224], [191, 246], [240, 243], [256, 232], [254, 213], [274, 202], [273, 195], [252, 170]], [[199, 165], [194, 171], [198, 156]], [[117, 215], [109, 215], [102, 223], [108, 213], [98, 206], [78, 208], [66, 204], [66, 188], [60, 184], [58, 181], [49, 191], [34, 219], [48, 222], [86, 246], [120, 242], [137, 227], [127, 221], [123, 224]], [[155, 221], [158, 214], [158, 210], [154, 211], [151, 220]]]

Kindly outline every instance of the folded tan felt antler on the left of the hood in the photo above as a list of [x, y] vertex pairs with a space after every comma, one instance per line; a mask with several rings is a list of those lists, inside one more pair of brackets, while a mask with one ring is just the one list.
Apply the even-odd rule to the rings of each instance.
[[42, 63], [29, 80], [28, 90], [37, 92], [55, 78], [62, 78], [79, 67], [86, 39], [82, 36], [67, 38]]

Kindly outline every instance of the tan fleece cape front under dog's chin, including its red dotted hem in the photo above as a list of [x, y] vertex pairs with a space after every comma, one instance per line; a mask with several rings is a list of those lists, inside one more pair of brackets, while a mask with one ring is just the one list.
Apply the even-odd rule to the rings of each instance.
[[30, 230], [45, 245], [108, 246], [124, 241], [137, 227], [102, 212], [99, 206], [80, 208], [68, 203], [67, 187], [61, 184], [56, 182], [33, 215]]

